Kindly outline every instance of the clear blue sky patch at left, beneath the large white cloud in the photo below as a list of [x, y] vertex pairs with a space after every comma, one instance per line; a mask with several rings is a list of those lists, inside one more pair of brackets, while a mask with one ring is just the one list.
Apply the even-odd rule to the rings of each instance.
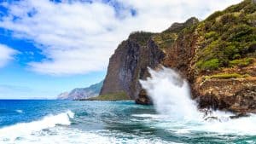
[[[5, 30], [1, 29], [1, 33], [3, 31]], [[98, 83], [106, 73], [101, 71], [54, 76], [32, 72], [26, 64], [44, 60], [45, 56], [40, 54], [40, 49], [32, 42], [14, 38], [9, 34], [1, 35], [0, 43], [19, 51], [13, 60], [0, 68], [0, 99], [51, 99], [61, 92]]]

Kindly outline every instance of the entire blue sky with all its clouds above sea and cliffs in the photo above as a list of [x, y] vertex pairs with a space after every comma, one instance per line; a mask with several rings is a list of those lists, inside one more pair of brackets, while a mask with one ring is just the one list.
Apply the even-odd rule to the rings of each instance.
[[162, 32], [241, 0], [0, 0], [0, 99], [54, 99], [105, 78], [131, 32]]

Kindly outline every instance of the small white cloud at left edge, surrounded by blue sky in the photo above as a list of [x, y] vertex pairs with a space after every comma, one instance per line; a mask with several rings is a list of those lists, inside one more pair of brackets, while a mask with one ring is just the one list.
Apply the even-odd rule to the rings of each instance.
[[6, 66], [10, 60], [13, 60], [15, 54], [17, 54], [15, 49], [0, 43], [0, 68]]

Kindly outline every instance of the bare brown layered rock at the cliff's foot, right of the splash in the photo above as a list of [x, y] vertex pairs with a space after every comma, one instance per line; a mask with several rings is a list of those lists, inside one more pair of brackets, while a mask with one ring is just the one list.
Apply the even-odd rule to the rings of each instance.
[[256, 79], [209, 79], [198, 86], [199, 107], [256, 112]]

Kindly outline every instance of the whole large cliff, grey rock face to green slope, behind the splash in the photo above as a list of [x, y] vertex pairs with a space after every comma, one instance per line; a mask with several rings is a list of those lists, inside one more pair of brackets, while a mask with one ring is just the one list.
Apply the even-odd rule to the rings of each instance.
[[149, 77], [148, 66], [163, 65], [189, 80], [199, 107], [256, 112], [255, 51], [256, 4], [245, 0], [203, 21], [132, 33], [110, 58], [101, 95], [125, 92], [137, 103], [151, 103], [138, 80]]

